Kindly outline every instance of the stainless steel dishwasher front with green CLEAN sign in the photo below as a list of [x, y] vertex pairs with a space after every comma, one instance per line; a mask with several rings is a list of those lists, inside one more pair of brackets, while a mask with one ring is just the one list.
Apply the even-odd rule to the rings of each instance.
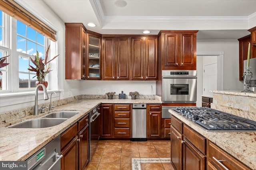
[[28, 170], [60, 170], [60, 136], [53, 139], [38, 152], [33, 154], [28, 161]]

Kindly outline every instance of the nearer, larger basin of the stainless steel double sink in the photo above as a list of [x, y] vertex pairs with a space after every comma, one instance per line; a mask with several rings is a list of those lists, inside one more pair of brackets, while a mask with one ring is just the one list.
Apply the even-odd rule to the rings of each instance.
[[67, 119], [31, 119], [16, 125], [12, 125], [9, 128], [44, 128], [44, 127], [52, 127], [59, 125], [60, 123], [66, 121]]

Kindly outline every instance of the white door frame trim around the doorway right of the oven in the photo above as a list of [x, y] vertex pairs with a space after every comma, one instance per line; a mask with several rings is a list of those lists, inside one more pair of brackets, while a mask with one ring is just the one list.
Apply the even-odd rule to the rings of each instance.
[[196, 56], [217, 56], [217, 90], [223, 90], [224, 51], [197, 51]]

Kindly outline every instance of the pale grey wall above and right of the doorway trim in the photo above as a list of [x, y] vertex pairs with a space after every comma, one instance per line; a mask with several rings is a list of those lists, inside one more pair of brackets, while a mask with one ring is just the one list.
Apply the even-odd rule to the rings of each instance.
[[196, 51], [224, 51], [223, 90], [242, 90], [239, 81], [239, 43], [237, 39], [198, 39]]

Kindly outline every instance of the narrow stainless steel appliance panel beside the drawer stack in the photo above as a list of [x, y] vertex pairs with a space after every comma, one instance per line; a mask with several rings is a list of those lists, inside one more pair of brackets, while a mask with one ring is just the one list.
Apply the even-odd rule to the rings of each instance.
[[147, 141], [146, 108], [147, 104], [132, 104], [131, 141]]

